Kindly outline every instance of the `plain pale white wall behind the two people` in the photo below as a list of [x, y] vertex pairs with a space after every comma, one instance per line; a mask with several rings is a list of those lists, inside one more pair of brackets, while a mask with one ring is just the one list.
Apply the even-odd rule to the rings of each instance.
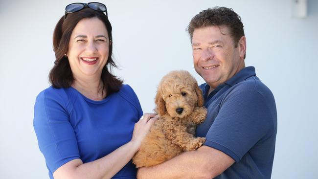
[[[36, 95], [49, 86], [52, 33], [70, 0], [0, 1], [0, 178], [48, 178], [33, 131]], [[115, 74], [136, 91], [144, 112], [161, 77], [173, 69], [195, 73], [190, 19], [227, 6], [242, 18], [248, 66], [273, 91], [278, 133], [273, 179], [317, 179], [318, 1], [293, 19], [292, 0], [102, 0], [113, 24]]]

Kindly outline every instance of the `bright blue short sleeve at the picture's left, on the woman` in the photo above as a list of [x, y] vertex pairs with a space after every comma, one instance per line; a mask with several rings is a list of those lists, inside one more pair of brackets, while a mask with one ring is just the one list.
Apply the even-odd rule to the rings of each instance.
[[68, 161], [80, 158], [74, 130], [68, 120], [66, 100], [66, 95], [44, 90], [37, 96], [34, 106], [34, 131], [51, 174]]

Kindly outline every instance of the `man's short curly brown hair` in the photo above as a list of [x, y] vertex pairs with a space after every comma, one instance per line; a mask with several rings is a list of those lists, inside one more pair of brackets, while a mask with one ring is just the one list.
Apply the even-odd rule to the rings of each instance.
[[[233, 39], [234, 46], [237, 47], [239, 40], [244, 36], [244, 26], [241, 17], [231, 8], [214, 7], [201, 11], [194, 16], [188, 25], [188, 33], [192, 43], [193, 32], [196, 28], [202, 28], [213, 25], [225, 25], [229, 29], [230, 36]], [[246, 55], [244, 55], [245, 59]]]

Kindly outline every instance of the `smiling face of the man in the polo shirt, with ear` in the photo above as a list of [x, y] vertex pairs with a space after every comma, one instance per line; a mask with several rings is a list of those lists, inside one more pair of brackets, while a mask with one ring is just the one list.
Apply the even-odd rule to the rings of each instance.
[[197, 28], [192, 36], [194, 68], [215, 89], [245, 67], [245, 47], [244, 36], [235, 47], [227, 26]]

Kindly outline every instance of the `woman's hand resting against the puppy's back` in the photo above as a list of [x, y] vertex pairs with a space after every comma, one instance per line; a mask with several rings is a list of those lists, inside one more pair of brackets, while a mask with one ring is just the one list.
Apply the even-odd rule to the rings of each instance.
[[158, 119], [158, 117], [159, 115], [156, 115], [155, 113], [144, 113], [140, 117], [139, 121], [135, 124], [131, 142], [134, 143], [134, 146], [137, 150], [139, 150], [141, 141], [149, 133], [151, 126]]

